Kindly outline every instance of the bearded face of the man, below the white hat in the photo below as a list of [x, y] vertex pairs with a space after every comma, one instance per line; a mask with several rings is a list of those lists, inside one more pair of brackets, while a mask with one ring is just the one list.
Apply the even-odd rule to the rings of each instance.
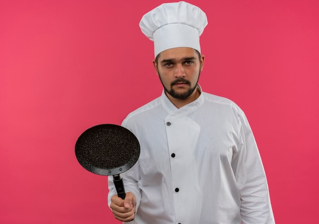
[[[203, 69], [204, 56], [188, 47], [165, 50], [153, 65], [164, 90], [175, 99], [187, 99], [194, 93]], [[169, 96], [168, 96], [169, 97]]]

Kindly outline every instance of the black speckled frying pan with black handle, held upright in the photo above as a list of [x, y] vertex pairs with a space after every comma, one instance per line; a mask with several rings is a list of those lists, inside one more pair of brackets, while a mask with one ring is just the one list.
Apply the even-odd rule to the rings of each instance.
[[78, 137], [75, 156], [79, 164], [91, 173], [113, 175], [117, 195], [124, 199], [125, 189], [120, 174], [136, 164], [140, 156], [140, 144], [125, 127], [99, 124]]

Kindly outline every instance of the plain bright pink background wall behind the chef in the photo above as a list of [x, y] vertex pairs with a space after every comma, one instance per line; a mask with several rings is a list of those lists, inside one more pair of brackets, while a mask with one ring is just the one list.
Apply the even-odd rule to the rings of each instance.
[[[0, 223], [119, 223], [74, 145], [161, 94], [138, 24], [162, 3], [1, 1]], [[277, 224], [317, 223], [319, 2], [190, 3], [208, 16], [200, 84], [245, 111]]]

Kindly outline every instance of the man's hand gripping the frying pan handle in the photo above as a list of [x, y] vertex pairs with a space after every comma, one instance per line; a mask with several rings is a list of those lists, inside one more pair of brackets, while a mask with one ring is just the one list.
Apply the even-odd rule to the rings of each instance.
[[124, 200], [115, 195], [111, 198], [110, 208], [116, 219], [125, 222], [131, 221], [135, 215], [136, 197], [130, 192], [126, 193]]

